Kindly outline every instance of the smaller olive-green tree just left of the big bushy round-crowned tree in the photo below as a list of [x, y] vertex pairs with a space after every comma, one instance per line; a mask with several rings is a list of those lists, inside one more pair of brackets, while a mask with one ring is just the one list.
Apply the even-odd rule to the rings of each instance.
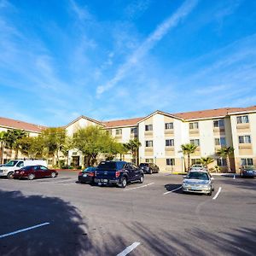
[[42, 132], [42, 137], [44, 138], [44, 152], [53, 158], [53, 165], [55, 165], [55, 156], [57, 164], [59, 164], [59, 154], [66, 140], [65, 129], [61, 127], [47, 128]]

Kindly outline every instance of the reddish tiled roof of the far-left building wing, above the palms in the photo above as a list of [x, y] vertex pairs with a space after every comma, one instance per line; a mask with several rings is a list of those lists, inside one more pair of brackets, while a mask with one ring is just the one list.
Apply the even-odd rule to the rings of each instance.
[[15, 129], [20, 129], [20, 130], [25, 130], [25, 131], [33, 131], [33, 132], [41, 132], [42, 130], [45, 129], [45, 126], [42, 125], [33, 125], [30, 123], [26, 123], [20, 120], [15, 120], [15, 119], [7, 119], [0, 117], [0, 126], [4, 128], [15, 128]]

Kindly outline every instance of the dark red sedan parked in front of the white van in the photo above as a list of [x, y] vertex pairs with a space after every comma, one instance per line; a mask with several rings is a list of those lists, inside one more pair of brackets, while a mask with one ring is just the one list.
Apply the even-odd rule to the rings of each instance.
[[45, 166], [25, 166], [15, 171], [14, 178], [26, 177], [32, 180], [35, 177], [56, 177], [57, 175], [58, 172], [49, 170]]

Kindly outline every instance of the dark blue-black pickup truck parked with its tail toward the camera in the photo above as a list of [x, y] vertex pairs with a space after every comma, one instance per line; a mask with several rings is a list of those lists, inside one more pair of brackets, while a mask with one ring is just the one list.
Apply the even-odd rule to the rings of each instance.
[[143, 183], [144, 174], [138, 166], [125, 161], [102, 161], [96, 168], [95, 183], [115, 184], [125, 188], [127, 183]]

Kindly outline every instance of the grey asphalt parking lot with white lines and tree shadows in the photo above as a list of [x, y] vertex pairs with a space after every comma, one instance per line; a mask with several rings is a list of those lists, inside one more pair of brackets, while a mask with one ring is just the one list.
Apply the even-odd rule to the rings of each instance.
[[256, 178], [215, 177], [208, 196], [178, 175], [125, 189], [77, 175], [0, 179], [0, 255], [255, 255]]

